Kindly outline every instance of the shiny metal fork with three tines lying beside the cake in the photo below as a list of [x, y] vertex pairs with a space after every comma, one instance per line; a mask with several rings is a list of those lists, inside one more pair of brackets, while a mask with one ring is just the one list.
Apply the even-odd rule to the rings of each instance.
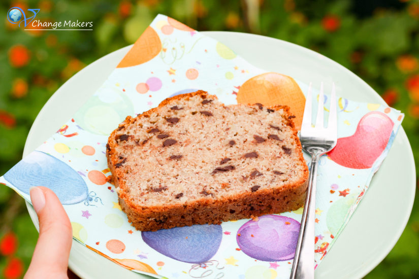
[[303, 218], [301, 220], [300, 235], [298, 237], [296, 253], [294, 256], [291, 279], [314, 278], [314, 219], [316, 202], [316, 175], [317, 163], [321, 155], [331, 151], [337, 142], [337, 115], [335, 84], [332, 85], [330, 97], [329, 124], [324, 127], [324, 94], [323, 82], [320, 85], [318, 97], [316, 124], [311, 124], [311, 83], [308, 88], [304, 109], [303, 123], [301, 125], [300, 142], [303, 149], [311, 155], [311, 170], [308, 179], [307, 197], [304, 204]]

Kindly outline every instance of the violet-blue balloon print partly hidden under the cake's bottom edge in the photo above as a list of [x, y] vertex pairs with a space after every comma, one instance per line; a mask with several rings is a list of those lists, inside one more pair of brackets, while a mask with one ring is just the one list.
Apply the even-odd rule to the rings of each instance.
[[220, 225], [193, 225], [158, 231], [143, 231], [148, 246], [172, 259], [203, 263], [217, 253], [222, 238]]

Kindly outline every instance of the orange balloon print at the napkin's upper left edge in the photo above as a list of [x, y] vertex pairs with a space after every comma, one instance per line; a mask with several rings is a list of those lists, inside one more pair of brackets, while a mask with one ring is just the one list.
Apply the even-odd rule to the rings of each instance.
[[162, 50], [162, 42], [156, 31], [148, 26], [116, 67], [131, 67], [145, 63], [157, 56], [160, 50]]

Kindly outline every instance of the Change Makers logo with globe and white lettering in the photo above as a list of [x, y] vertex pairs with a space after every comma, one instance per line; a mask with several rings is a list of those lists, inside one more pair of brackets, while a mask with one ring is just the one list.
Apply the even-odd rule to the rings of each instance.
[[[26, 28], [29, 24], [29, 28], [25, 30], [93, 30], [92, 21], [79, 21], [79, 20], [65, 20], [65, 21], [42, 21], [35, 19], [40, 9], [27, 9], [29, 17], [26, 17], [25, 12], [19, 7], [12, 7], [7, 11], [7, 20], [12, 24], [24, 25]], [[35, 29], [41, 28], [41, 29]], [[49, 29], [48, 29], [49, 28]]]

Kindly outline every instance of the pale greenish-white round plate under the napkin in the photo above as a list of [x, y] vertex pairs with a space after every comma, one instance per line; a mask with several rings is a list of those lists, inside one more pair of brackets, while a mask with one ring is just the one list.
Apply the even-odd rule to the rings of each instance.
[[[337, 85], [337, 94], [355, 101], [385, 102], [364, 81], [338, 63], [284, 41], [235, 32], [203, 32], [232, 48], [248, 62], [302, 82]], [[29, 131], [23, 155], [36, 149], [68, 121], [102, 83], [131, 46], [91, 63], [63, 84], [48, 100]], [[326, 86], [326, 92], [330, 88]], [[401, 167], [403, 166], [403, 167]], [[388, 157], [316, 278], [357, 278], [371, 271], [392, 250], [409, 219], [415, 194], [413, 154], [400, 129]], [[33, 208], [29, 214], [38, 228]], [[82, 278], [151, 278], [126, 270], [73, 240], [70, 268]]]

